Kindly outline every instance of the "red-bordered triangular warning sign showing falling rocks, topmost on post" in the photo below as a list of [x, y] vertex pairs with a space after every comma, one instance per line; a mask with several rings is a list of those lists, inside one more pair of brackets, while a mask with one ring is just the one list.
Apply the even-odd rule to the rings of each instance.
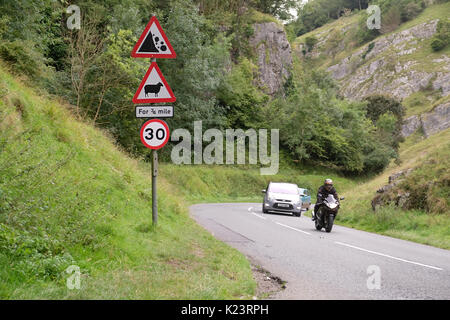
[[131, 52], [134, 58], [176, 58], [158, 19], [153, 16]]

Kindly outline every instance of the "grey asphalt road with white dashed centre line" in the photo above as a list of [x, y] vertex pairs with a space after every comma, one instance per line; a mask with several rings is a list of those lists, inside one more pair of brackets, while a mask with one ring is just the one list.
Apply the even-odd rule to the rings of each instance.
[[450, 251], [309, 217], [263, 214], [260, 203], [200, 204], [192, 217], [287, 281], [275, 299], [450, 299]]

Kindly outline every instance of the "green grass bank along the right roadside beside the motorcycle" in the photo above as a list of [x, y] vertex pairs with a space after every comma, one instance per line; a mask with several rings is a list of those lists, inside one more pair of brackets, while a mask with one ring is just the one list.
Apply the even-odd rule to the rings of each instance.
[[[376, 190], [388, 183], [388, 177], [400, 170], [416, 168], [411, 174], [410, 185], [420, 186], [429, 181], [448, 179], [450, 174], [450, 129], [423, 139], [419, 133], [409, 137], [400, 150], [401, 164], [392, 163], [381, 175], [344, 193], [346, 201], [336, 222], [344, 226], [376, 232], [387, 236], [416, 241], [444, 249], [450, 249], [450, 211], [448, 210], [448, 185], [429, 195], [443, 206], [441, 214], [424, 210], [404, 211], [386, 207], [374, 213], [371, 200]], [[443, 181], [444, 181], [443, 180]], [[436, 191], [433, 191], [436, 193]], [[441, 193], [441, 194], [439, 194]], [[447, 202], [447, 205], [444, 202]]]

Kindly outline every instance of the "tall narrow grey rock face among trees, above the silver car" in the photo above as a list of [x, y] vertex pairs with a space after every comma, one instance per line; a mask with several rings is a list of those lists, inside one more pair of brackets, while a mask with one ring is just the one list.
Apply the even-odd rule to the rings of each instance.
[[284, 30], [275, 22], [255, 24], [254, 30], [250, 45], [258, 57], [257, 85], [267, 94], [274, 95], [290, 76], [291, 45]]

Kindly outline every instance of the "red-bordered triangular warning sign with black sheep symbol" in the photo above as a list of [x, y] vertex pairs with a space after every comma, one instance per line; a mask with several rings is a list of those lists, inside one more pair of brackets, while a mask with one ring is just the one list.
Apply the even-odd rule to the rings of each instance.
[[150, 65], [133, 97], [133, 103], [175, 102], [177, 98], [167, 84], [156, 62]]

